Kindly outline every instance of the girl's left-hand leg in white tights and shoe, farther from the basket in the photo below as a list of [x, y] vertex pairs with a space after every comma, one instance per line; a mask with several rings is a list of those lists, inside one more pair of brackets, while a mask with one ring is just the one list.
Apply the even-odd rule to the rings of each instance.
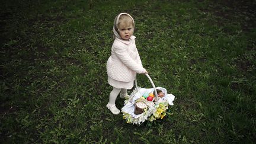
[[110, 100], [107, 104], [107, 108], [113, 113], [113, 114], [119, 114], [120, 110], [116, 107], [116, 98], [117, 95], [119, 95], [119, 92], [121, 91], [120, 88], [113, 87], [113, 90], [110, 92]]

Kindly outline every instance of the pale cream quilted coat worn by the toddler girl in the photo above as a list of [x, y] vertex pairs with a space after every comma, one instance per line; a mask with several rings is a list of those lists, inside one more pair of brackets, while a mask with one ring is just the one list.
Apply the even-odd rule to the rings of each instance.
[[107, 61], [107, 74], [117, 81], [134, 81], [136, 73], [145, 73], [135, 44], [135, 36], [130, 40], [116, 37]]

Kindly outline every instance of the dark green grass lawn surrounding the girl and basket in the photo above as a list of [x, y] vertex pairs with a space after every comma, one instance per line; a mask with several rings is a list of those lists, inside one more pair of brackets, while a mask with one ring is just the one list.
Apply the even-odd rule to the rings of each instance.
[[[255, 2], [0, 4], [1, 143], [256, 141]], [[163, 120], [135, 126], [105, 107], [119, 12], [135, 19], [137, 49], [155, 85], [176, 96]]]

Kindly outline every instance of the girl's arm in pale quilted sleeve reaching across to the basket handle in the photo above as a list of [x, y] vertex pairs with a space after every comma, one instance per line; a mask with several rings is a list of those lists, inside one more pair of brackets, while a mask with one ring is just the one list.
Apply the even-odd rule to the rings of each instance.
[[114, 46], [114, 53], [116, 53], [117, 57], [124, 63], [128, 68], [132, 69], [136, 73], [145, 73], [146, 69], [143, 68], [142, 65], [139, 65], [135, 60], [130, 57], [129, 53], [127, 53], [124, 47]]

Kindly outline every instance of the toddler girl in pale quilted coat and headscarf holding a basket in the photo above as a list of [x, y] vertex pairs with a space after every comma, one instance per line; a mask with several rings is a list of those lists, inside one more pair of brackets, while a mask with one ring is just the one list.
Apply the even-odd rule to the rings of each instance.
[[129, 14], [120, 13], [114, 20], [115, 40], [107, 60], [108, 84], [113, 86], [107, 108], [113, 114], [120, 113], [115, 104], [117, 95], [120, 93], [121, 98], [126, 97], [127, 89], [133, 87], [136, 73], [148, 73], [135, 45], [134, 28], [135, 22]]

